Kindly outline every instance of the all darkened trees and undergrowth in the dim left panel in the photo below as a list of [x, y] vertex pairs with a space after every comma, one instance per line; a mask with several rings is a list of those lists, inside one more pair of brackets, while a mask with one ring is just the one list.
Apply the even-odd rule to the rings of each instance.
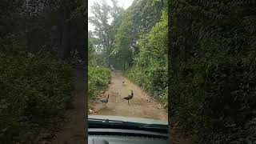
[[33, 143], [71, 106], [67, 59], [74, 47], [85, 58], [86, 2], [10, 0], [0, 12], [0, 143]]

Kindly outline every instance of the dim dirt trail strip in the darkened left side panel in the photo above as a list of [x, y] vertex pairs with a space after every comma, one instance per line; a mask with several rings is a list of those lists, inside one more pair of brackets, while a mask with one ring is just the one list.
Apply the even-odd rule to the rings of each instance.
[[67, 110], [66, 118], [68, 121], [65, 123], [62, 130], [56, 135], [52, 144], [82, 144], [86, 143], [86, 83], [85, 83], [85, 70], [82, 66], [76, 66], [74, 70], [74, 109]]

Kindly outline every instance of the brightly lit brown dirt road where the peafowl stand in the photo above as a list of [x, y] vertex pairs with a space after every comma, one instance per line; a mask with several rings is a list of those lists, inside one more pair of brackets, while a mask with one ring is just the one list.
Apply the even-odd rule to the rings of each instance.
[[[92, 114], [96, 115], [118, 115], [135, 118], [154, 118], [167, 121], [167, 111], [161, 105], [144, 92], [139, 86], [122, 77], [122, 73], [114, 71], [111, 73], [111, 83], [108, 90], [100, 95], [106, 98], [110, 94], [106, 107], [100, 102], [90, 103]], [[122, 78], [125, 83], [122, 84]], [[130, 104], [123, 99], [134, 90], [134, 98]]]

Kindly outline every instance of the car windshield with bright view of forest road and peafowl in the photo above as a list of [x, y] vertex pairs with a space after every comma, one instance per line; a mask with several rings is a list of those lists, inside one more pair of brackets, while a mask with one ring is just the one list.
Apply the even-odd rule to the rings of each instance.
[[89, 124], [166, 130], [166, 5], [127, 2], [89, 2]]

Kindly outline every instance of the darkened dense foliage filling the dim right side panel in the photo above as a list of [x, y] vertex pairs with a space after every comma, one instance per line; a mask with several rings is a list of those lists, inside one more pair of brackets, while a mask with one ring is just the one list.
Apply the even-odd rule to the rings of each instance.
[[255, 2], [170, 7], [170, 115], [201, 143], [255, 143]]

